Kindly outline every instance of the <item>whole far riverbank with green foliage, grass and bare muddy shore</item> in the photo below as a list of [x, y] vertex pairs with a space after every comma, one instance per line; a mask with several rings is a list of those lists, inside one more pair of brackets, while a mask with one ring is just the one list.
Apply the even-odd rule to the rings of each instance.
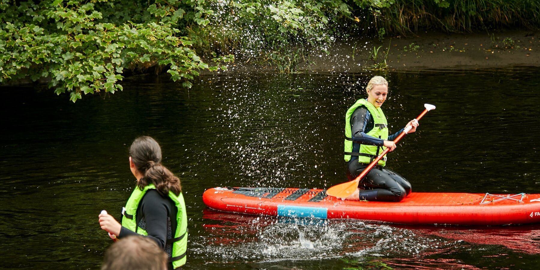
[[537, 0], [0, 0], [0, 84], [57, 95], [125, 76], [540, 66]]

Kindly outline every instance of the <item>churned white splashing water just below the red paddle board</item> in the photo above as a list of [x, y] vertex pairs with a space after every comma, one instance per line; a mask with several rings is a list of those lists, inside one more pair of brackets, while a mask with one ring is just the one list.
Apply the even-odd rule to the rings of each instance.
[[[227, 261], [273, 262], [412, 256], [452, 247], [457, 243], [455, 240], [425, 237], [411, 230], [361, 221], [269, 217], [249, 221], [249, 217], [240, 220], [234, 215], [230, 217], [234, 222], [225, 221], [219, 228], [208, 225], [205, 231], [208, 236], [194, 240], [193, 252], [210, 261], [221, 258]], [[219, 219], [227, 220], [223, 215]], [[213, 242], [215, 239], [221, 240]]]

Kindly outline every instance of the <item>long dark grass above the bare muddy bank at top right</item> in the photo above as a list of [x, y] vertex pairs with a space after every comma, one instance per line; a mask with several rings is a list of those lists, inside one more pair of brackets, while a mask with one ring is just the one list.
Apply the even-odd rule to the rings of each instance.
[[353, 12], [354, 16], [365, 18], [357, 22], [356, 33], [378, 35], [384, 29], [390, 35], [410, 35], [423, 29], [472, 32], [540, 28], [537, 0], [383, 0], [381, 3], [371, 10], [361, 8]]

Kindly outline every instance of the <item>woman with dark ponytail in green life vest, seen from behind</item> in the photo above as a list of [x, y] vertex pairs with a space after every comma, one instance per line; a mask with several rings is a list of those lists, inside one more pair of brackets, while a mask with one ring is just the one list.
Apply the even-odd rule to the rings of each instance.
[[151, 137], [130, 146], [130, 168], [137, 186], [122, 209], [122, 225], [110, 214], [99, 215], [99, 225], [118, 239], [144, 235], [168, 254], [168, 268], [186, 263], [187, 216], [180, 179], [161, 165], [161, 148]]

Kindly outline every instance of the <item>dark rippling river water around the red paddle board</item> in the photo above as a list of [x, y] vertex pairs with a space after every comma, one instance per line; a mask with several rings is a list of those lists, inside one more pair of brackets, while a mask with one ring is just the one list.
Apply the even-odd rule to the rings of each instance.
[[[390, 73], [397, 131], [437, 109], [390, 153], [417, 192], [540, 193], [540, 69]], [[343, 127], [373, 73], [166, 77], [76, 104], [42, 86], [2, 87], [0, 268], [98, 269], [149, 135], [182, 180], [190, 230], [183, 269], [538, 269], [538, 225], [404, 226], [208, 210], [216, 186], [324, 188], [346, 181]]]

